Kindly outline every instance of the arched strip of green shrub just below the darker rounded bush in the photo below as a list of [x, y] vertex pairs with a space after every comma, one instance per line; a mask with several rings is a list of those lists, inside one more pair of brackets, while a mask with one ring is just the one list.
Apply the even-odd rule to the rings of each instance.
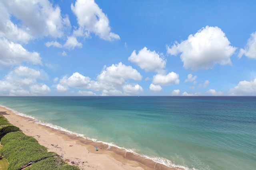
[[17, 132], [10, 132], [10, 133], [7, 133], [6, 135], [4, 135], [4, 137], [2, 137], [2, 139], [1, 139], [1, 144], [5, 145], [6, 143], [8, 143], [9, 141], [12, 141], [14, 139], [26, 140], [26, 141], [30, 141], [30, 142], [37, 142], [36, 139], [34, 139], [33, 137], [27, 136], [24, 133], [17, 131]]

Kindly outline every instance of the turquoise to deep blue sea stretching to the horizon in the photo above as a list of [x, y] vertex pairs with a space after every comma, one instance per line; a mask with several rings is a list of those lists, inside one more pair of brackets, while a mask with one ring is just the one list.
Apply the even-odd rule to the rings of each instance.
[[168, 166], [256, 169], [256, 97], [0, 97], [0, 105]]

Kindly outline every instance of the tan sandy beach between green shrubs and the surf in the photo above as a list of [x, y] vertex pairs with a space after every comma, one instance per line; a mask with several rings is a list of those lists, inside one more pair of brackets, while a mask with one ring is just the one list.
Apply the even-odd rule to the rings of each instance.
[[[34, 123], [33, 119], [16, 115], [4, 107], [0, 107], [0, 114], [24, 134], [34, 137], [48, 151], [63, 155], [63, 160], [81, 170], [174, 170], [125, 150], [109, 148], [102, 143]], [[97, 151], [95, 147], [98, 147]]]

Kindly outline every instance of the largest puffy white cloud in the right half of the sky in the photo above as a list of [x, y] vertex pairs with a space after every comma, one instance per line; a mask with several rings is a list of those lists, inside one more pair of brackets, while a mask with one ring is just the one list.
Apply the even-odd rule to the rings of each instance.
[[230, 46], [225, 33], [219, 27], [206, 26], [180, 44], [167, 47], [170, 55], [180, 55], [184, 68], [192, 70], [212, 68], [215, 64], [232, 64], [230, 57], [236, 47]]

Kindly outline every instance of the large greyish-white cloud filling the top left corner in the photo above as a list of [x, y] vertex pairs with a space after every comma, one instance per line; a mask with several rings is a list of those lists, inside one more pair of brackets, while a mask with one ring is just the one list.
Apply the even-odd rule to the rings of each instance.
[[[27, 43], [35, 37], [62, 37], [66, 27], [70, 27], [68, 16], [60, 13], [59, 6], [53, 6], [48, 0], [8, 0], [0, 2], [2, 20], [0, 35], [11, 41]], [[21, 23], [11, 21], [15, 16]]]

